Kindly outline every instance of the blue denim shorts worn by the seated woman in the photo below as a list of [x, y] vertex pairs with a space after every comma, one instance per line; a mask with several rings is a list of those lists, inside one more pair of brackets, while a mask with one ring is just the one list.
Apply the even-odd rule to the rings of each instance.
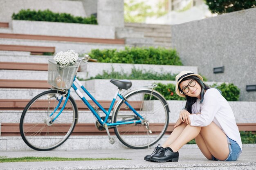
[[[240, 146], [236, 143], [236, 141], [230, 139], [227, 137], [228, 146], [229, 146], [229, 156], [224, 161], [236, 161], [240, 154], [242, 153], [242, 150]], [[212, 160], [214, 161], [220, 161], [212, 156]]]

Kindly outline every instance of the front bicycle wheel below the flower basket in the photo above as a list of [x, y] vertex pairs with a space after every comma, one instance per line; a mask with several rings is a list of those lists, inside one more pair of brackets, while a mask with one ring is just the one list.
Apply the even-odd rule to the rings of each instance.
[[[59, 108], [49, 117], [62, 96]], [[61, 110], [65, 99], [64, 92], [51, 90], [40, 93], [27, 104], [20, 117], [20, 135], [30, 148], [52, 150], [63, 144], [71, 135], [78, 119], [76, 103], [71, 96], [62, 113], [51, 123]]]

